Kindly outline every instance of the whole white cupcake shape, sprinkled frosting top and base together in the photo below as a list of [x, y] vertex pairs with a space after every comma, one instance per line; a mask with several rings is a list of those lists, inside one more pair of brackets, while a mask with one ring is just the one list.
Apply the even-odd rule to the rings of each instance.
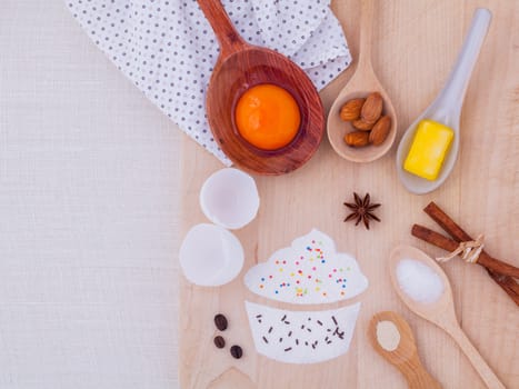
[[[355, 258], [337, 252], [333, 240], [316, 229], [251, 268], [244, 283], [270, 301], [296, 305], [337, 302], [368, 287]], [[295, 311], [246, 301], [246, 309], [260, 355], [286, 363], [317, 363], [348, 351], [360, 302]]]

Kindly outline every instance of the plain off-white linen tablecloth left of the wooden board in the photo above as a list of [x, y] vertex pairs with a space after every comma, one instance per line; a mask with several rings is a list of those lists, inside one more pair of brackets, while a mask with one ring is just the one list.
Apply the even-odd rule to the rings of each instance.
[[177, 388], [181, 132], [61, 0], [0, 11], [0, 389]]

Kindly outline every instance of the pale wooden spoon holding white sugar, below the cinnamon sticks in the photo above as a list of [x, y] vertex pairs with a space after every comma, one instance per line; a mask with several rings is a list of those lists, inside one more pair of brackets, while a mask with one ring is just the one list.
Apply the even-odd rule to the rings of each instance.
[[[397, 278], [397, 266], [402, 259], [413, 259], [420, 261], [428, 266], [441, 278], [443, 281], [443, 292], [437, 301], [431, 303], [418, 302], [406, 295], [402, 289], [400, 289], [400, 285]], [[391, 283], [393, 285], [398, 296], [408, 306], [408, 308], [418, 316], [421, 316], [423, 319], [429, 320], [449, 333], [468, 357], [476, 371], [489, 388], [505, 389], [505, 386], [501, 383], [501, 381], [499, 381], [499, 378], [487, 365], [485, 359], [472, 346], [463, 330], [460, 328], [458, 319], [456, 318], [452, 289], [450, 288], [449, 279], [447, 278], [443, 270], [438, 266], [438, 263], [423, 251], [415, 247], [398, 246], [392, 250], [389, 258], [389, 273], [391, 276]]]

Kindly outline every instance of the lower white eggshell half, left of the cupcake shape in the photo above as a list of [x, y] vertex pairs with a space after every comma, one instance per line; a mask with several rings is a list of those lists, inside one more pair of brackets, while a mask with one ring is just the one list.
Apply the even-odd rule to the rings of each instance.
[[234, 279], [243, 267], [243, 247], [234, 235], [216, 225], [192, 227], [180, 246], [186, 278], [202, 287], [219, 287]]

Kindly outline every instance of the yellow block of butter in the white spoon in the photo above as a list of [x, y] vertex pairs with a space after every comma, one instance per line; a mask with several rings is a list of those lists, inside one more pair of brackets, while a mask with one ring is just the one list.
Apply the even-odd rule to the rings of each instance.
[[421, 120], [403, 169], [430, 181], [436, 180], [453, 137], [455, 131], [449, 127], [428, 119]]

